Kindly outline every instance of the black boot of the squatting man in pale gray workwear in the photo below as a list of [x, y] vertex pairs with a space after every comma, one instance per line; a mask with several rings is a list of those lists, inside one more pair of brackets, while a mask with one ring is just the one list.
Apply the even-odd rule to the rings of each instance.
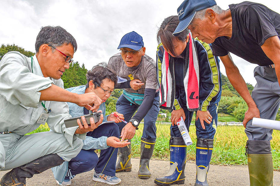
[[28, 164], [12, 169], [6, 173], [1, 181], [1, 186], [25, 186], [26, 178], [31, 178], [34, 174], [40, 174], [43, 171], [61, 165], [64, 162], [57, 154], [45, 155], [41, 158], [31, 161]]

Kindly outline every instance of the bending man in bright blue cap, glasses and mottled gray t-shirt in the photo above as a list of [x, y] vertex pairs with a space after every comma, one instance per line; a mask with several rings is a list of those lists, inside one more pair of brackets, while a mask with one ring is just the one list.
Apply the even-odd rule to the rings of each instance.
[[[151, 176], [149, 161], [156, 143], [155, 122], [160, 110], [156, 63], [145, 54], [143, 38], [134, 31], [123, 36], [118, 49], [120, 52], [110, 58], [108, 68], [125, 79], [125, 82], [115, 85], [115, 88], [124, 88], [123, 94], [117, 101], [116, 109], [118, 113], [123, 114], [128, 123], [121, 122], [117, 125], [120, 129], [121, 140], [130, 140], [144, 118], [138, 177], [148, 179]], [[135, 113], [136, 110], [137, 113]], [[116, 172], [131, 171], [131, 144], [129, 147], [119, 148], [118, 155]]]

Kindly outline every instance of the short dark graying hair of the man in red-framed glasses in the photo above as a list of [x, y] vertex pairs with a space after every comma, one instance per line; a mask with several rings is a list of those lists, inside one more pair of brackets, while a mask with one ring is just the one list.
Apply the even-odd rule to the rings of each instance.
[[[35, 50], [39, 52], [39, 48], [42, 44], [62, 46], [69, 43], [72, 44], [74, 52], [76, 52], [77, 42], [69, 32], [60, 26], [45, 26], [41, 28], [41, 31], [37, 35]], [[54, 49], [52, 49], [52, 51], [53, 50]]]

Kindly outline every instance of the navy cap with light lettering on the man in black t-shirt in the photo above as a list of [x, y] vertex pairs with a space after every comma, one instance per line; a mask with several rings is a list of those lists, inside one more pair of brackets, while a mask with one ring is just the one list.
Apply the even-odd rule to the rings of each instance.
[[214, 5], [216, 5], [216, 1], [214, 0], [185, 0], [177, 9], [180, 22], [173, 32], [173, 35], [179, 35], [189, 26], [196, 11], [212, 7]]

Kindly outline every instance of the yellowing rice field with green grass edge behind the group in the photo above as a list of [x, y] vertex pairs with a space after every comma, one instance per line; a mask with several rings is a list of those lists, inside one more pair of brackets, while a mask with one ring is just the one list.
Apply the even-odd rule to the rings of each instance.
[[[140, 158], [140, 142], [143, 124], [131, 139], [132, 157]], [[187, 147], [187, 160], [195, 161], [196, 134], [195, 126], [190, 126], [190, 137], [193, 141]], [[274, 131], [271, 140], [272, 158], [274, 170], [280, 171], [280, 131]], [[170, 125], [157, 124], [157, 142], [154, 148], [153, 159], [169, 160]], [[246, 165], [245, 144], [247, 136], [243, 126], [218, 126], [214, 137], [214, 150], [210, 164], [216, 165]]]

